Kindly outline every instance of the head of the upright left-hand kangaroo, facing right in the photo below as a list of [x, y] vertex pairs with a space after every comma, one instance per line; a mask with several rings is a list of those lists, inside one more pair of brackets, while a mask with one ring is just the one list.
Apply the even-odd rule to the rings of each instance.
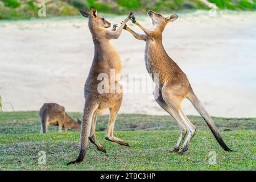
[[89, 24], [92, 26], [100, 27], [100, 28], [109, 28], [111, 23], [109, 23], [103, 16], [98, 15], [97, 10], [93, 7], [90, 8], [90, 12], [87, 13], [86, 11], [79, 10], [81, 15], [89, 18]]

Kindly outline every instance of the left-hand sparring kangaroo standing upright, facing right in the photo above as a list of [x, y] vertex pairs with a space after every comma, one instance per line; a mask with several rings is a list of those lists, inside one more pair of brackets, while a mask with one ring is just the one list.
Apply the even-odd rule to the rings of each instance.
[[[124, 146], [129, 146], [127, 142], [114, 137], [115, 118], [117, 117], [118, 110], [122, 104], [123, 94], [122, 86], [118, 83], [119, 74], [121, 73], [121, 61], [110, 40], [119, 38], [123, 27], [133, 14], [130, 13], [123, 24], [114, 31], [106, 29], [110, 27], [110, 23], [105, 20], [104, 17], [98, 15], [96, 9], [91, 8], [89, 13], [80, 10], [80, 13], [82, 16], [89, 18], [88, 25], [94, 43], [94, 58], [84, 87], [85, 105], [84, 113], [82, 115], [80, 153], [75, 161], [68, 164], [82, 162], [88, 145], [88, 137], [90, 142], [95, 144], [98, 150], [106, 152], [105, 148], [96, 140], [95, 127], [97, 114], [101, 114], [103, 110], [107, 108], [110, 110], [110, 115], [105, 139]], [[113, 29], [115, 29], [115, 26]], [[112, 73], [113, 71], [114, 75]], [[112, 78], [110, 78], [110, 73]], [[102, 74], [110, 78], [106, 82], [106, 85], [104, 85], [104, 90], [106, 90], [104, 93], [98, 91], [98, 86], [100, 86], [101, 83], [98, 76]], [[104, 81], [106, 81], [105, 78]], [[113, 84], [115, 88], [119, 88], [118, 92], [113, 90]]]

